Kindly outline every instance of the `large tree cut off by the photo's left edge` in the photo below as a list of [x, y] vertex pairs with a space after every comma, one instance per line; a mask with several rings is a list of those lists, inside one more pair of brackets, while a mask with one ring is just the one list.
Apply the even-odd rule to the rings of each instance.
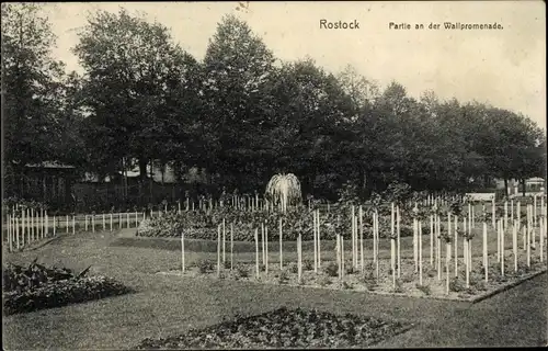
[[39, 5], [2, 3], [4, 166], [59, 160], [64, 67], [53, 59], [50, 24]]

